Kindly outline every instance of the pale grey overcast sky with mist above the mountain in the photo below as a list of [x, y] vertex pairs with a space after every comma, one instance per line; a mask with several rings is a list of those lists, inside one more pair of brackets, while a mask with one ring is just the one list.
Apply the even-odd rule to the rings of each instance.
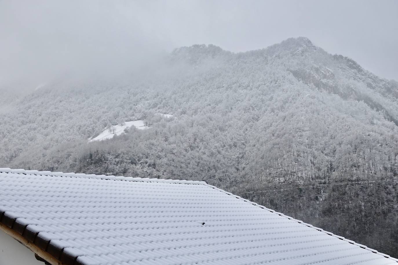
[[123, 71], [179, 46], [240, 52], [298, 36], [398, 80], [395, 0], [0, 0], [0, 82]]

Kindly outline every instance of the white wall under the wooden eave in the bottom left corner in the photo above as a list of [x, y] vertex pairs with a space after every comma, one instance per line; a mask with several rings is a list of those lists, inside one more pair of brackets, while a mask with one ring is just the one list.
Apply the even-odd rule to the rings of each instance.
[[0, 230], [0, 265], [44, 265], [35, 253]]

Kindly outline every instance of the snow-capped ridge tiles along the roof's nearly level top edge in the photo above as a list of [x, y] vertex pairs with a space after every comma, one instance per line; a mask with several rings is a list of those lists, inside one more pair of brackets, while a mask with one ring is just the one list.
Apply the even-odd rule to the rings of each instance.
[[71, 177], [71, 178], [93, 178], [93, 179], [105, 179], [105, 180], [122, 180], [122, 181], [139, 181], [139, 182], [160, 182], [160, 183], [176, 183], [176, 184], [207, 184], [205, 181], [198, 180], [172, 180], [162, 178], [134, 178], [125, 176], [107, 176], [107, 175], [96, 175], [96, 174], [84, 174], [84, 173], [64, 173], [64, 172], [51, 172], [51, 171], [38, 171], [38, 170], [25, 170], [25, 169], [11, 169], [11, 168], [0, 168], [0, 173], [15, 173], [25, 175], [46, 175], [46, 176], [59, 176], [59, 177]]

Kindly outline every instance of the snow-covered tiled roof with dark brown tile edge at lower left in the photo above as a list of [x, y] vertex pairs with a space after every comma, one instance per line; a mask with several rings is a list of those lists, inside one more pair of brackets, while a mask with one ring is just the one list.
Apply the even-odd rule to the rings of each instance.
[[1, 223], [63, 264], [396, 264], [200, 181], [0, 168]]

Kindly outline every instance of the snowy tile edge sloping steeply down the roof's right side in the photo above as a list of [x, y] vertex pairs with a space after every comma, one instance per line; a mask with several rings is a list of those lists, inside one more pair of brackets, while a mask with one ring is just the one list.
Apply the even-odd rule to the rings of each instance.
[[396, 261], [396, 262], [398, 263], [398, 259], [396, 259], [396, 258], [394, 258], [394, 257], [391, 257], [390, 255], [381, 253], [381, 252], [379, 252], [379, 251], [377, 251], [377, 250], [374, 250], [373, 248], [368, 248], [368, 247], [365, 246], [365, 245], [359, 244], [359, 243], [357, 243], [357, 242], [355, 242], [355, 241], [353, 241], [353, 240], [349, 240], [349, 239], [347, 239], [347, 238], [345, 238], [345, 237], [343, 237], [343, 236], [338, 236], [338, 235], [336, 235], [336, 234], [333, 234], [332, 232], [328, 232], [328, 231], [326, 231], [326, 230], [323, 230], [322, 228], [313, 226], [312, 224], [307, 224], [306, 222], [303, 222], [303, 221], [301, 221], [301, 220], [295, 219], [295, 218], [290, 217], [290, 216], [288, 216], [288, 215], [284, 215], [283, 213], [279, 213], [279, 212], [274, 211], [274, 210], [272, 210], [272, 209], [269, 209], [269, 208], [267, 208], [267, 207], [265, 207], [265, 206], [263, 206], [263, 205], [260, 205], [260, 204], [258, 204], [258, 203], [253, 202], [253, 201], [250, 201], [250, 200], [248, 200], [248, 199], [242, 198], [242, 197], [240, 197], [240, 196], [238, 196], [238, 195], [235, 195], [235, 194], [230, 193], [230, 192], [228, 192], [228, 191], [222, 190], [222, 189], [220, 189], [220, 188], [217, 188], [216, 186], [213, 186], [213, 185], [210, 185], [210, 184], [207, 184], [207, 183], [204, 184], [204, 185], [205, 185], [205, 186], [209, 186], [209, 187], [211, 187], [211, 188], [213, 188], [213, 189], [215, 189], [215, 190], [219, 190], [219, 191], [221, 191], [221, 192], [224, 192], [224, 193], [226, 193], [226, 194], [228, 194], [228, 195], [230, 195], [230, 196], [234, 196], [234, 197], [236, 197], [237, 199], [243, 200], [243, 201], [245, 201], [245, 202], [247, 202], [247, 203], [251, 203], [251, 204], [254, 205], [254, 206], [257, 206], [257, 207], [260, 207], [260, 208], [265, 209], [265, 210], [267, 210], [267, 211], [270, 211], [271, 213], [276, 213], [276, 214], [279, 215], [279, 216], [282, 216], [282, 217], [285, 217], [285, 218], [287, 218], [287, 219], [296, 221], [296, 222], [298, 222], [298, 223], [300, 223], [300, 224], [303, 224], [303, 225], [305, 225], [305, 226], [308, 226], [308, 227], [310, 227], [310, 228], [314, 228], [314, 229], [316, 229], [316, 230], [318, 230], [318, 231], [320, 231], [320, 232], [324, 232], [325, 234], [328, 234], [328, 235], [330, 235], [330, 236], [334, 236], [334, 237], [336, 237], [336, 238], [338, 238], [338, 239], [340, 239], [340, 240], [347, 241], [347, 242], [350, 243], [350, 244], [353, 244], [353, 245], [355, 245], [355, 246], [359, 246], [360, 248], [363, 248], [363, 249], [365, 249], [365, 250], [369, 250], [369, 251], [371, 251], [371, 252], [373, 252], [373, 253], [375, 253], [375, 254], [382, 255], [383, 257], [386, 257], [387, 259], [391, 259], [391, 260]]

